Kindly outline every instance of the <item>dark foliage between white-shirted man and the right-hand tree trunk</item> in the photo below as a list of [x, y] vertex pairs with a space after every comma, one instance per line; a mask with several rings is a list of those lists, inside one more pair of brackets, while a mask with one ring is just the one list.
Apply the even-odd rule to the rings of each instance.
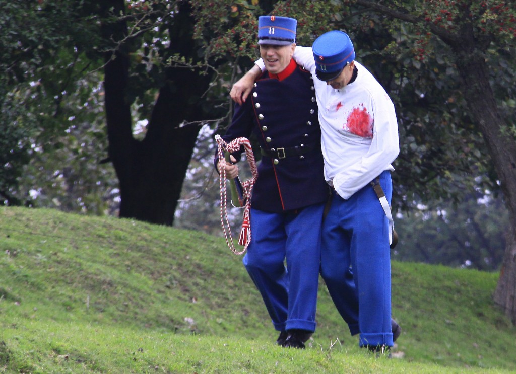
[[442, 54], [418, 60], [412, 52], [411, 40], [416, 37], [412, 32], [410, 27], [400, 25], [396, 41], [389, 43], [383, 58], [364, 57], [365, 61], [376, 60], [375, 73], [389, 82], [385, 86], [397, 108], [401, 148], [395, 165], [397, 184], [405, 191], [425, 191], [418, 194], [426, 201], [460, 199], [464, 191], [473, 191], [477, 184], [496, 191], [495, 178], [469, 177], [494, 173], [489, 152], [458, 90], [460, 84], [457, 72], [451, 69], [453, 58], [448, 48], [431, 39], [428, 44], [436, 45]]

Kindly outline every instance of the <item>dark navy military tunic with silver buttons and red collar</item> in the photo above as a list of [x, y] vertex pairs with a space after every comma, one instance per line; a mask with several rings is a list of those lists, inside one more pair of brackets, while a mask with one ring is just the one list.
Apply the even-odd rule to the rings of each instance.
[[[258, 165], [251, 206], [273, 213], [325, 202], [329, 196], [311, 74], [292, 60], [277, 78], [265, 72], [255, 82], [222, 137], [230, 142], [254, 132], [268, 155]], [[233, 156], [239, 160], [243, 151]]]

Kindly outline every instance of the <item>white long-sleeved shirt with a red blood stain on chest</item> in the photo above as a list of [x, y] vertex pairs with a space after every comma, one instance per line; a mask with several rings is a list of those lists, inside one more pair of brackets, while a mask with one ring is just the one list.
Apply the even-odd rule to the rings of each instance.
[[[358, 76], [335, 90], [315, 75], [310, 47], [297, 46], [294, 59], [311, 72], [321, 126], [326, 181], [350, 198], [385, 170], [399, 154], [394, 104], [375, 77], [355, 61]], [[261, 60], [256, 64], [264, 70]]]

